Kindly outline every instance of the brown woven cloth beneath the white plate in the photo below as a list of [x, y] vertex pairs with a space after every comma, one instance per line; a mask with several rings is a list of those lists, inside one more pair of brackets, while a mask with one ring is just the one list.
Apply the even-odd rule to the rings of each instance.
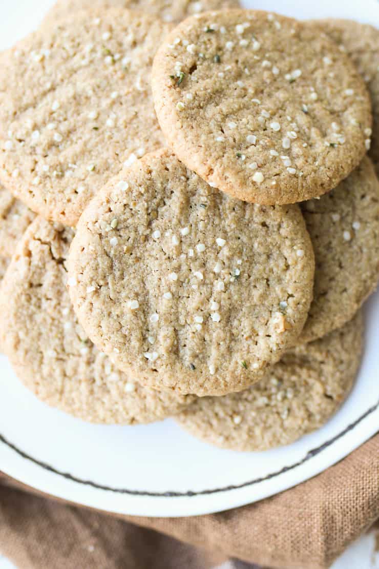
[[379, 434], [306, 483], [210, 516], [111, 516], [2, 482], [0, 551], [20, 569], [318, 569], [379, 518]]

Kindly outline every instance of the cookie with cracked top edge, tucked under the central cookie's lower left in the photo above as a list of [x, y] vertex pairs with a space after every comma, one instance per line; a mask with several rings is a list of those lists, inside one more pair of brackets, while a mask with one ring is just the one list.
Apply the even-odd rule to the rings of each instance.
[[95, 423], [148, 423], [193, 398], [141, 387], [118, 372], [77, 323], [66, 290], [71, 229], [36, 218], [1, 288], [3, 351], [26, 387], [53, 407]]

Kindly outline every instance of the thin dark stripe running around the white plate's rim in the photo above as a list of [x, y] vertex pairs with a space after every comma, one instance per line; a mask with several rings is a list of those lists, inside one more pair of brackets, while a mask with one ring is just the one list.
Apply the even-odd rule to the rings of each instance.
[[374, 413], [379, 409], [379, 401], [376, 405], [370, 407], [363, 415], [361, 415], [358, 419], [356, 419], [353, 423], [349, 424], [347, 427], [344, 428], [338, 435], [335, 435], [332, 439], [327, 440], [325, 443], [321, 444], [319, 447], [315, 447], [307, 452], [306, 456], [303, 457], [298, 462], [291, 464], [290, 466], [285, 466], [276, 472], [271, 472], [266, 476], [261, 476], [260, 478], [256, 478], [253, 480], [249, 480], [248, 482], [244, 482], [238, 485], [231, 485], [231, 486], [224, 486], [224, 488], [213, 488], [209, 490], [199, 490], [198, 492], [193, 492], [192, 490], [188, 490], [188, 492], [176, 492], [173, 490], [167, 490], [166, 492], [149, 492], [148, 490], [129, 490], [127, 488], [113, 488], [112, 486], [105, 486], [103, 484], [98, 484], [93, 482], [92, 480], [82, 480], [81, 478], [77, 478], [73, 476], [69, 472], [61, 472], [56, 468], [52, 467], [51, 465], [44, 463], [41, 460], [35, 459], [34, 457], [28, 455], [26, 452], [20, 450], [15, 444], [11, 443], [9, 440], [5, 438], [5, 436], [0, 434], [0, 441], [6, 444], [9, 448], [15, 451], [19, 456], [22, 458], [29, 460], [30, 462], [38, 465], [45, 470], [52, 472], [58, 476], [62, 476], [66, 480], [70, 480], [72, 482], [76, 482], [77, 484], [83, 484], [86, 486], [91, 486], [97, 490], [106, 490], [107, 492], [114, 492], [116, 494], [129, 494], [130, 496], [149, 496], [153, 498], [183, 498], [183, 497], [193, 497], [193, 496], [205, 496], [209, 494], [216, 494], [220, 492], [228, 492], [230, 490], [238, 490], [240, 488], [245, 488], [246, 486], [253, 486], [255, 484], [259, 484], [260, 482], [264, 482], [266, 480], [272, 480], [285, 472], [289, 472], [302, 464], [305, 464], [310, 459], [313, 459], [315, 456], [319, 455], [320, 452], [325, 450], [326, 448], [330, 447], [331, 444], [335, 443], [336, 440], [340, 439], [344, 435], [346, 435], [349, 431], [352, 431], [359, 423], [361, 423], [366, 417]]

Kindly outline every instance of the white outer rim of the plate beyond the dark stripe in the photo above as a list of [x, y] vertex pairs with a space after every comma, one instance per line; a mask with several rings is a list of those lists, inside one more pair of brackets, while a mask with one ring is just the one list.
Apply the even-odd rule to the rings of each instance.
[[[377, 417], [377, 421], [375, 418]], [[365, 424], [368, 423], [368, 424]], [[22, 461], [28, 461], [38, 470], [43, 470], [44, 473], [48, 473], [47, 483], [46, 481], [38, 480], [34, 477], [34, 480], [28, 478], [27, 475], [20, 475], [20, 471], [16, 468], [17, 472], [14, 472], [14, 468], [11, 465], [2, 465], [2, 472], [6, 475], [13, 477], [20, 483], [26, 484], [43, 492], [49, 494], [50, 496], [62, 498], [63, 500], [72, 502], [77, 505], [87, 506], [90, 508], [95, 508], [103, 512], [111, 512], [121, 515], [130, 516], [149, 516], [149, 517], [190, 517], [190, 516], [200, 516], [204, 514], [217, 513], [227, 510], [228, 508], [239, 508], [247, 504], [252, 504], [253, 502], [268, 498], [282, 492], [285, 489], [293, 488], [293, 486], [302, 483], [303, 481], [309, 480], [311, 477], [318, 475], [323, 472], [324, 469], [331, 467], [332, 465], [338, 463], [343, 458], [347, 457], [351, 452], [356, 450], [364, 444], [368, 439], [374, 436], [378, 431], [379, 424], [379, 399], [374, 405], [370, 406], [364, 411], [358, 418], [353, 422], [347, 424], [343, 430], [339, 431], [336, 435], [324, 440], [317, 447], [311, 448], [307, 451], [306, 455], [299, 459], [297, 463], [293, 465], [285, 466], [278, 472], [268, 473], [268, 475], [261, 477], [261, 479], [253, 479], [245, 481], [244, 483], [238, 485], [230, 485], [224, 488], [215, 489], [205, 489], [199, 490], [197, 492], [151, 492], [144, 490], [128, 490], [128, 489], [117, 489], [111, 488], [102, 484], [94, 483], [91, 480], [82, 480], [77, 476], [70, 475], [68, 472], [62, 472], [52, 467], [51, 465], [32, 457], [27, 452], [20, 449], [15, 444], [11, 443], [5, 436], [0, 434], [1, 448], [7, 448], [14, 455], [17, 456], [16, 463]], [[341, 444], [346, 439], [347, 435], [352, 433], [356, 434], [359, 431], [357, 427], [364, 427], [365, 432], [363, 436], [359, 436], [357, 440], [347, 439], [351, 441], [349, 446]], [[360, 435], [362, 435], [360, 433]], [[336, 448], [337, 446], [337, 448]], [[334, 452], [332, 459], [328, 459], [330, 451]], [[317, 457], [322, 457], [319, 464], [314, 467], [314, 464], [309, 468], [309, 464], [314, 462]], [[327, 465], [327, 466], [326, 466]], [[311, 471], [309, 475], [307, 471]], [[287, 478], [293, 476], [293, 479], [288, 483]], [[32, 476], [33, 479], [33, 476]], [[57, 479], [64, 480], [68, 482], [68, 488], [57, 488], [55, 483]], [[272, 482], [276, 481], [278, 484], [273, 487]], [[269, 483], [268, 485], [266, 483]], [[79, 499], [73, 500], [72, 494], [70, 493], [70, 486], [76, 486], [76, 489], [81, 490], [85, 488], [85, 493], [87, 496], [81, 496]], [[251, 495], [251, 489], [256, 488], [256, 485], [264, 486], [260, 488], [260, 492], [256, 496]], [[61, 484], [59, 486], [62, 486]], [[65, 486], [65, 485], [63, 485]], [[89, 492], [90, 490], [90, 492]], [[76, 492], [75, 492], [76, 493]], [[95, 494], [93, 494], [95, 493]], [[99, 494], [109, 494], [114, 496], [123, 496], [127, 498], [123, 500], [122, 504], [119, 506], [115, 505], [111, 508], [102, 506], [103, 500], [95, 500], [100, 502], [98, 505], [94, 505], [93, 497], [97, 494], [97, 498], [100, 498]], [[236, 497], [236, 494], [241, 494]], [[222, 504], [216, 505], [214, 503], [214, 496], [220, 497], [218, 500]], [[190, 502], [190, 498], [197, 498], [195, 502]], [[104, 496], [103, 496], [104, 498]], [[136, 498], [137, 503], [133, 503]], [[142, 500], [141, 500], [142, 498]], [[186, 512], [183, 512], [183, 500], [186, 501]]]

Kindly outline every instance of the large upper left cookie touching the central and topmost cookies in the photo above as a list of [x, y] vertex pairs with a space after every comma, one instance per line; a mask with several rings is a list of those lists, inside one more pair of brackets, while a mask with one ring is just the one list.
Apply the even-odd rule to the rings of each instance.
[[169, 24], [110, 9], [45, 25], [2, 55], [0, 179], [73, 226], [99, 188], [161, 146], [150, 73]]

